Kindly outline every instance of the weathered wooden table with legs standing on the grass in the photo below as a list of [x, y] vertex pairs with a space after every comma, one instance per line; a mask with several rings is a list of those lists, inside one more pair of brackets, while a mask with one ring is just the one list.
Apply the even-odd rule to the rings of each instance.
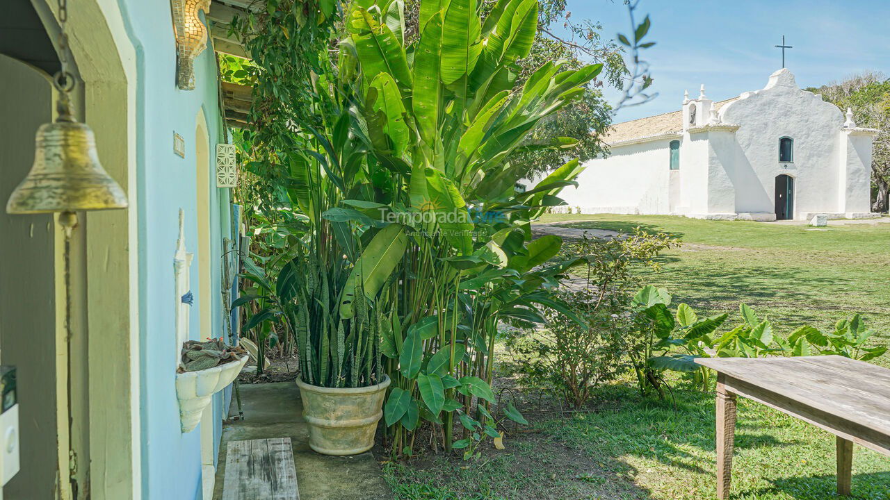
[[853, 443], [890, 456], [890, 369], [841, 356], [695, 361], [717, 372], [720, 500], [729, 497], [737, 395], [835, 434], [838, 495], [850, 495]]

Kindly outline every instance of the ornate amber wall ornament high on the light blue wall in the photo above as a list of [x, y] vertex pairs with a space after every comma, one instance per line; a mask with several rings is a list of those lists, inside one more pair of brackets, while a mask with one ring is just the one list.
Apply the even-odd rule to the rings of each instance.
[[198, 11], [208, 12], [210, 0], [170, 0], [176, 35], [176, 86], [195, 88], [194, 60], [207, 46], [207, 27]]

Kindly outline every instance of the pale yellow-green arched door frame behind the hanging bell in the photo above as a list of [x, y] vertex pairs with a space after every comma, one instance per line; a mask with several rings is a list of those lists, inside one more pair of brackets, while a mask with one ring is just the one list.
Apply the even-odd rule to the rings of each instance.
[[[57, 44], [57, 3], [31, 3], [53, 44]], [[72, 317], [77, 318], [71, 323], [69, 351], [73, 421], [70, 435], [64, 420], [60, 420], [58, 431], [60, 441], [69, 441], [77, 456], [79, 496], [88, 495], [93, 500], [139, 499], [142, 451], [136, 51], [116, 0], [69, 2], [68, 10], [69, 60], [82, 82], [73, 96], [75, 112], [92, 127], [101, 163], [126, 191], [130, 207], [78, 214], [71, 248], [75, 286], [70, 299]], [[60, 263], [57, 246], [55, 282], [64, 297]], [[57, 344], [65, 343], [62, 328], [60, 323]], [[67, 364], [67, 359], [60, 362]], [[68, 376], [67, 369], [64, 376]], [[67, 416], [67, 394], [60, 403], [60, 415], [64, 412]], [[62, 498], [71, 497], [67, 452], [60, 449], [59, 453]]]

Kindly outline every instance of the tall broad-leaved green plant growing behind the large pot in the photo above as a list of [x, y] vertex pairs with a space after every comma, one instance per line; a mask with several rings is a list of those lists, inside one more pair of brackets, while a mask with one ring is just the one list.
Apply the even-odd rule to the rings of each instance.
[[[499, 0], [485, 19], [480, 12], [477, 0], [423, 0], [419, 37], [406, 46], [400, 1], [356, 0], [340, 44], [339, 86], [356, 89], [372, 174], [367, 189], [325, 217], [388, 224], [369, 233], [376, 236], [355, 268], [362, 275], [350, 278], [361, 286], [344, 288], [339, 313], [358, 314], [362, 292], [376, 303], [395, 453], [410, 454], [423, 422], [441, 427], [433, 440], [441, 435], [444, 448], [467, 456], [499, 435], [489, 408], [498, 323], [541, 323], [539, 305], [562, 308], [550, 291], [573, 263], [548, 262], [562, 240], [531, 241], [530, 221], [563, 204], [556, 195], [576, 185], [583, 167], [572, 160], [522, 191], [523, 167], [509, 158], [541, 120], [585, 93], [602, 65], [549, 61], [517, 85], [538, 2]], [[388, 278], [397, 254], [397, 278]], [[461, 440], [453, 439], [455, 415]], [[506, 417], [522, 419], [514, 408]]]

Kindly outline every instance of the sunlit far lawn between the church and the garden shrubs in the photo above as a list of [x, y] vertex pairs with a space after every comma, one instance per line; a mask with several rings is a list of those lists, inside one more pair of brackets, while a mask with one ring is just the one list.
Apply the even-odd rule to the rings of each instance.
[[659, 215], [546, 215], [543, 222], [584, 219], [571, 228], [664, 231], [684, 246], [662, 254], [643, 280], [665, 286], [695, 310], [731, 312], [746, 302], [786, 333], [812, 324], [828, 329], [861, 312], [890, 339], [890, 224], [829, 228]]

